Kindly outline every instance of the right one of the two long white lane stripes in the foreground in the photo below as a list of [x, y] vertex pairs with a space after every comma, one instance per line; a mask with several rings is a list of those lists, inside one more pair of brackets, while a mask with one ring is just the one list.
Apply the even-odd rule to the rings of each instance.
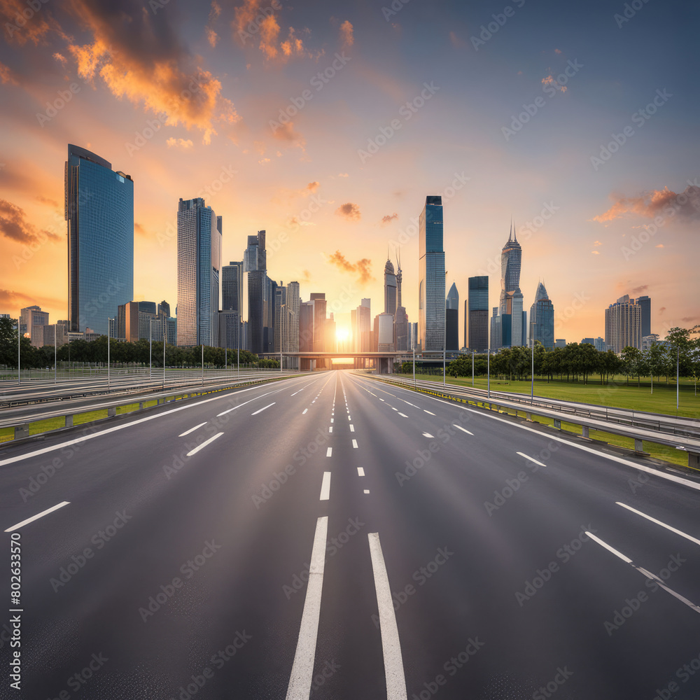
[[[369, 491], [365, 490], [365, 493]], [[403, 671], [401, 643], [391, 598], [391, 587], [386, 573], [384, 554], [381, 553], [379, 533], [367, 534], [370, 541], [374, 591], [377, 593], [379, 609], [379, 631], [381, 631], [381, 651], [384, 654], [384, 677], [386, 678], [386, 700], [406, 700], [406, 678]]]

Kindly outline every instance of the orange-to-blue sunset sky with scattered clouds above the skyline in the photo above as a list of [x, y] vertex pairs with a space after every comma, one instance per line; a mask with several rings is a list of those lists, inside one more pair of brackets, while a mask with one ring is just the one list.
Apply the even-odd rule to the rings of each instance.
[[265, 229], [268, 274], [325, 291], [340, 327], [360, 297], [384, 310], [405, 241], [417, 321], [412, 223], [442, 194], [461, 304], [476, 274], [498, 303], [513, 218], [555, 337], [604, 335], [625, 293], [652, 297], [652, 332], [700, 323], [700, 6], [637, 5], [0, 0], [0, 313], [67, 317], [71, 143], [134, 179], [139, 300], [175, 306], [177, 202], [200, 196], [225, 262]]

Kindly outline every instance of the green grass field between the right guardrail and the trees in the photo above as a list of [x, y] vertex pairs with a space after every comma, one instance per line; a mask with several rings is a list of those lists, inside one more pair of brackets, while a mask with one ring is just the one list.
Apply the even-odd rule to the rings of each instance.
[[[412, 377], [412, 374], [402, 374], [402, 377]], [[442, 377], [435, 374], [416, 374], [416, 379], [428, 379], [438, 381], [442, 384]], [[624, 383], [624, 378], [617, 383], [601, 386], [600, 377], [589, 378], [589, 384], [584, 384], [582, 381], [547, 381], [535, 377], [535, 395], [546, 396], [547, 398], [559, 398], [568, 401], [579, 401], [582, 403], [591, 403], [600, 406], [609, 406], [614, 408], [626, 408], [636, 411], [646, 411], [650, 413], [664, 413], [670, 416], [675, 416], [675, 381], [668, 385], [662, 379], [657, 382], [654, 379], [654, 393], [650, 392], [650, 380], [642, 379], [641, 386], [637, 386], [636, 378], [634, 381], [630, 379], [629, 386]], [[597, 380], [597, 384], [596, 384]], [[458, 386], [472, 386], [471, 377], [447, 377], [447, 384], [456, 384]], [[476, 388], [486, 388], [486, 377], [475, 378]], [[529, 381], [508, 381], [503, 379], [491, 378], [491, 389], [495, 391], [512, 391], [530, 395]], [[694, 395], [694, 382], [689, 379], [680, 380], [680, 409], [679, 416], [687, 416], [689, 418], [700, 417], [700, 393]]]

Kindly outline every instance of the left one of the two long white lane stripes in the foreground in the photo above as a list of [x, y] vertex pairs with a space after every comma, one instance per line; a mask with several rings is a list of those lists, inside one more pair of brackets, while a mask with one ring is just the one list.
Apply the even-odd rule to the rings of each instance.
[[321, 591], [323, 590], [323, 566], [325, 565], [325, 541], [327, 538], [328, 516], [325, 515], [316, 521], [307, 596], [304, 599], [304, 612], [302, 612], [297, 650], [294, 654], [286, 700], [309, 700], [311, 695], [311, 681], [313, 680], [314, 660], [316, 659], [318, 618], [321, 615]]

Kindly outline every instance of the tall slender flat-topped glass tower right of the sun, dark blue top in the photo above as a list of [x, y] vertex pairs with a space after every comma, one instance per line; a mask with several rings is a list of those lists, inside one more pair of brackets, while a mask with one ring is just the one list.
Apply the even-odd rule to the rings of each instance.
[[444, 344], [442, 197], [426, 197], [419, 218], [418, 344], [423, 352]]

